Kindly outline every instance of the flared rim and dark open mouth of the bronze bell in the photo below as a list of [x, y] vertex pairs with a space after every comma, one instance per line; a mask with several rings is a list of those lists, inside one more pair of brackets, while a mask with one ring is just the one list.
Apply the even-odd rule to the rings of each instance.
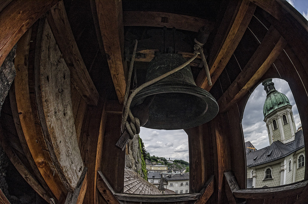
[[143, 127], [177, 130], [196, 127], [212, 120], [219, 107], [214, 97], [190, 84], [158, 83], [142, 89], [133, 98], [131, 108], [155, 95], [149, 106], [149, 119]]

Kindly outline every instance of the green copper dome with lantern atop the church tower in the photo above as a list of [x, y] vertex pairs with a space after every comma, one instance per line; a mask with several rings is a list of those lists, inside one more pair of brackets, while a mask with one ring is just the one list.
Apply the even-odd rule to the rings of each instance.
[[275, 89], [272, 79], [265, 80], [262, 85], [264, 86], [264, 90], [267, 93], [263, 106], [264, 117], [277, 108], [283, 107], [285, 105], [291, 105], [288, 97]]

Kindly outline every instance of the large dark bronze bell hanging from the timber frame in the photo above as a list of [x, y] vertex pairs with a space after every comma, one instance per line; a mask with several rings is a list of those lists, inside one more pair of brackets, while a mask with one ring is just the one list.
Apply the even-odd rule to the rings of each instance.
[[[150, 62], [146, 80], [152, 80], [180, 66], [186, 60], [176, 54], [162, 54]], [[145, 100], [153, 97], [153, 100]], [[148, 122], [151, 129], [187, 129], [212, 120], [218, 113], [218, 104], [207, 91], [196, 86], [190, 66], [142, 89], [134, 97], [131, 108], [152, 101]]]

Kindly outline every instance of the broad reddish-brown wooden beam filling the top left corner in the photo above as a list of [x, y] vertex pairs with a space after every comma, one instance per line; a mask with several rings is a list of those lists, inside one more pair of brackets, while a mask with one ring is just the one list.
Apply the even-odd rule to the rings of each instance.
[[14, 0], [0, 12], [0, 66], [19, 38], [59, 0]]

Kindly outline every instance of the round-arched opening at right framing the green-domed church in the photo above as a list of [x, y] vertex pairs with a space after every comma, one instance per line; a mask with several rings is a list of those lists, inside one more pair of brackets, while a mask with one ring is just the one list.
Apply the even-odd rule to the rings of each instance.
[[[254, 89], [242, 118], [246, 188], [273, 187], [304, 179], [304, 136], [297, 129], [300, 123], [297, 105], [286, 81], [268, 79]], [[294, 148], [278, 158], [277, 145]], [[282, 162], [286, 169], [281, 169]]]

